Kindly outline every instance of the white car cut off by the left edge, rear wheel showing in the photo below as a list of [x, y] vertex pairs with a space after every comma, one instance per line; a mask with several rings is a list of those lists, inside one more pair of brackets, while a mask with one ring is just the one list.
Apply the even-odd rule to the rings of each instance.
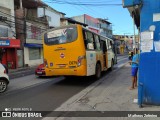
[[0, 63], [0, 93], [7, 90], [9, 84], [9, 77], [5, 67]]

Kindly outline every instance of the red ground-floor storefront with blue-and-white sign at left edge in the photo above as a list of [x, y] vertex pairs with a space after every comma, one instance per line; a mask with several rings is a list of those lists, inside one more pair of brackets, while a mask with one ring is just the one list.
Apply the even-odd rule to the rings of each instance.
[[0, 39], [1, 63], [9, 69], [18, 67], [17, 49], [20, 48], [19, 39]]

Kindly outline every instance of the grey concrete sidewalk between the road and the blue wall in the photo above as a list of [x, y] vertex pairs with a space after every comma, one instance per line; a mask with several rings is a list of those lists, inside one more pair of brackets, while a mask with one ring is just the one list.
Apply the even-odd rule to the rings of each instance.
[[[104, 79], [93, 83], [63, 103], [59, 108], [53, 110], [66, 111], [59, 117], [46, 117], [42, 120], [80, 120], [81, 117], [63, 117], [63, 115], [69, 114], [69, 111], [159, 111], [158, 106], [145, 105], [143, 108], [139, 108], [138, 104], [134, 102], [134, 100], [137, 99], [138, 89], [129, 90], [131, 85], [130, 67], [129, 64], [126, 64], [122, 68], [110, 72], [104, 76]], [[78, 112], [75, 114], [78, 114]], [[52, 114], [48, 116], [52, 116]], [[84, 119], [86, 118], [81, 118], [81, 120]], [[98, 117], [87, 117], [87, 120], [99, 119]], [[118, 118], [103, 117], [102, 119], [117, 120]], [[122, 119], [124, 120], [124, 118]], [[128, 118], [125, 118], [125, 120], [126, 119]], [[159, 118], [157, 118], [157, 120], [158, 119]]]

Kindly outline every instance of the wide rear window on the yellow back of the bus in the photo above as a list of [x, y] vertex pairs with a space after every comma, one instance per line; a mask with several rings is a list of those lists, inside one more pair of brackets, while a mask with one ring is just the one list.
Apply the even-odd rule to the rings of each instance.
[[77, 39], [77, 27], [61, 28], [44, 34], [44, 42], [47, 45], [57, 45], [73, 42]]

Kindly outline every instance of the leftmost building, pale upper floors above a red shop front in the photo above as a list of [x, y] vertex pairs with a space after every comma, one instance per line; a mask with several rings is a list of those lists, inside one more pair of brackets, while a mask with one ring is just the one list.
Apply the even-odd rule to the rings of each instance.
[[0, 2], [0, 61], [15, 69], [19, 63], [20, 40], [16, 39], [14, 0]]

